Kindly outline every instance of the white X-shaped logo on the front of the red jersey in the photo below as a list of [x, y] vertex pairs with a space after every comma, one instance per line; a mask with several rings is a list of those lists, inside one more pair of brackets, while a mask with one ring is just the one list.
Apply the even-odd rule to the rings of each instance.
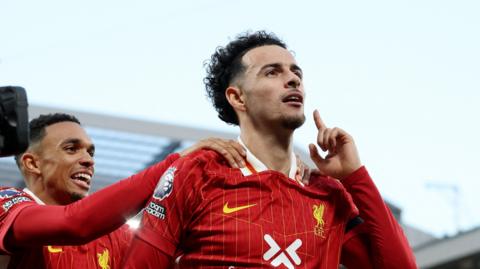
[[302, 260], [297, 255], [297, 249], [302, 246], [302, 240], [297, 239], [293, 241], [293, 243], [291, 243], [285, 250], [282, 250], [269, 234], [264, 235], [263, 239], [265, 239], [265, 242], [267, 242], [267, 244], [270, 246], [270, 249], [263, 254], [263, 259], [265, 261], [270, 261], [271, 258], [280, 253], [270, 262], [270, 264], [274, 267], [278, 267], [283, 264], [288, 269], [293, 269], [295, 267], [293, 266], [292, 261], [296, 265], [300, 265], [302, 263]]

